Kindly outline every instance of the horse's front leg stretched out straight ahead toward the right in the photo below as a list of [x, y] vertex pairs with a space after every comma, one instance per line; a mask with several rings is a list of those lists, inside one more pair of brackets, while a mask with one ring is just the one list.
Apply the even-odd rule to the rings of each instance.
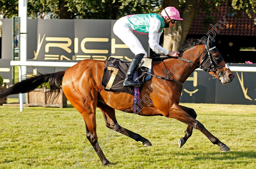
[[220, 146], [220, 150], [222, 152], [230, 151], [229, 147], [226, 146], [226, 144], [219, 141], [219, 139], [217, 139], [208, 130], [205, 129], [204, 125], [202, 125], [199, 121], [197, 121], [195, 118], [190, 116], [186, 111], [180, 108], [178, 104], [173, 104], [168, 114], [164, 113], [164, 115], [168, 118], [174, 118], [187, 125], [191, 125], [197, 130], [200, 130], [213, 144], [217, 144], [218, 146]]

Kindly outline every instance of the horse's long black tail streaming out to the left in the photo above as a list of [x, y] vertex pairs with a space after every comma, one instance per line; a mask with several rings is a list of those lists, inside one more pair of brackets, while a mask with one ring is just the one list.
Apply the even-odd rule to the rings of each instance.
[[49, 74], [28, 74], [25, 75], [24, 79], [14, 85], [10, 86], [9, 88], [0, 91], [0, 98], [9, 96], [11, 94], [18, 94], [18, 93], [27, 93], [43, 83], [49, 83], [50, 91], [47, 92], [47, 97], [51, 96], [54, 92], [56, 92], [51, 100], [57, 98], [62, 90], [62, 78], [66, 71], [49, 73]]

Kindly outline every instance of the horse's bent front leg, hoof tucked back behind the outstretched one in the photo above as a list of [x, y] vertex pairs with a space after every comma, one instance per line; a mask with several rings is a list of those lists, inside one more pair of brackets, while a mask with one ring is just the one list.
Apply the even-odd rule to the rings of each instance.
[[[180, 108], [182, 108], [182, 110], [186, 111], [187, 114], [189, 114], [191, 117], [196, 119], [197, 114], [194, 111], [194, 109], [185, 107], [185, 106], [181, 106], [181, 105], [179, 105], [179, 106], [180, 106]], [[185, 136], [181, 137], [179, 139], [179, 147], [182, 147], [187, 142], [187, 139], [192, 135], [192, 132], [193, 132], [193, 127], [191, 125], [188, 125], [187, 129], [185, 130]]]

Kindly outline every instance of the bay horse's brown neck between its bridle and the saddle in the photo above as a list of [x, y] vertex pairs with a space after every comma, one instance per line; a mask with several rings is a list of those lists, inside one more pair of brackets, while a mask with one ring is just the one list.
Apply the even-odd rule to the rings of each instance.
[[[191, 62], [200, 64], [200, 61], [203, 57], [204, 53], [204, 45], [198, 45], [194, 48], [186, 50], [183, 52], [182, 58], [190, 60]], [[185, 62], [181, 59], [167, 59], [169, 68], [168, 75], [171, 76], [174, 80], [178, 80], [181, 83], [184, 83], [187, 78], [191, 75], [191, 73], [197, 68], [197, 65], [193, 63]]]

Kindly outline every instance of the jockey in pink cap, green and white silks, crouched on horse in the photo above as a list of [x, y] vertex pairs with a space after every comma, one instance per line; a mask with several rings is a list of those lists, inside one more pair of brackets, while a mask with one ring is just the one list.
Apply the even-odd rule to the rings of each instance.
[[167, 7], [161, 12], [161, 15], [156, 13], [127, 15], [116, 21], [113, 32], [135, 54], [126, 73], [126, 78], [123, 82], [124, 87], [140, 86], [140, 83], [133, 82], [132, 77], [141, 59], [147, 57], [147, 52], [133, 32], [148, 34], [149, 46], [155, 53], [178, 56], [178, 54], [180, 54], [179, 52], [168, 51], [159, 45], [163, 28], [175, 26], [177, 20], [183, 20], [180, 18], [179, 11], [174, 7]]

